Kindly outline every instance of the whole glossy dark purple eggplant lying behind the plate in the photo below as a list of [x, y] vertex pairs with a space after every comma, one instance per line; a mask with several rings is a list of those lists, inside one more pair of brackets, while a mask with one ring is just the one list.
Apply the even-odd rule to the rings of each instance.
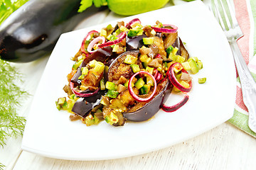
[[85, 18], [80, 0], [30, 0], [0, 25], [0, 58], [31, 62], [50, 53], [61, 33]]

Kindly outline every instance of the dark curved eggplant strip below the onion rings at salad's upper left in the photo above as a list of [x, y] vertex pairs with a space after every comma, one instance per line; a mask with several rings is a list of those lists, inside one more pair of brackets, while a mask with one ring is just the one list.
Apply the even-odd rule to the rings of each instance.
[[81, 83], [78, 77], [82, 75], [81, 69], [82, 67], [85, 67], [88, 62], [92, 60], [97, 60], [98, 62], [105, 63], [105, 62], [108, 62], [108, 60], [110, 60], [110, 57], [112, 57], [112, 48], [110, 46], [102, 47], [95, 50], [95, 52], [93, 52], [91, 55], [86, 57], [85, 60], [82, 61], [82, 64], [80, 65], [80, 67], [78, 67], [78, 71], [75, 73], [74, 77], [71, 79], [73, 84], [78, 86]]

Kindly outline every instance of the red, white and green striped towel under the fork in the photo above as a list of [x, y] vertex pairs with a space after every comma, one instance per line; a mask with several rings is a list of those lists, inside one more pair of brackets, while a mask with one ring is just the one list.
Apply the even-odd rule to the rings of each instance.
[[[255, 0], [234, 0], [235, 14], [244, 36], [238, 40], [240, 51], [247, 63], [252, 77], [256, 81], [256, 1]], [[255, 101], [256, 103], [256, 101]], [[242, 89], [237, 79], [237, 95], [233, 118], [228, 120], [230, 123], [256, 137], [248, 126], [248, 110], [242, 101]]]

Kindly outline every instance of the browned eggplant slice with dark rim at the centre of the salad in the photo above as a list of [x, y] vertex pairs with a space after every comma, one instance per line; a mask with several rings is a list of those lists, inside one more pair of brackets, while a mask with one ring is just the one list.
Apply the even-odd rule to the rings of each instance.
[[133, 55], [137, 57], [139, 55], [139, 50], [132, 50], [127, 51], [119, 55], [113, 62], [110, 64], [110, 69], [107, 74], [108, 81], [118, 81], [121, 76], [129, 79], [129, 77], [132, 77], [132, 68], [122, 65], [122, 67], [119, 67], [121, 64], [124, 64], [124, 59], [127, 55]]

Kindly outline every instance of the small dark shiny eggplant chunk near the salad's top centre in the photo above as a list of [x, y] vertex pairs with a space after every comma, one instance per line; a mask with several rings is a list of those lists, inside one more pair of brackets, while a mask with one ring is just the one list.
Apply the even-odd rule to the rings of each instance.
[[139, 35], [134, 37], [128, 37], [126, 38], [126, 50], [138, 50], [140, 47], [144, 45], [143, 38], [146, 38], [146, 35]]

